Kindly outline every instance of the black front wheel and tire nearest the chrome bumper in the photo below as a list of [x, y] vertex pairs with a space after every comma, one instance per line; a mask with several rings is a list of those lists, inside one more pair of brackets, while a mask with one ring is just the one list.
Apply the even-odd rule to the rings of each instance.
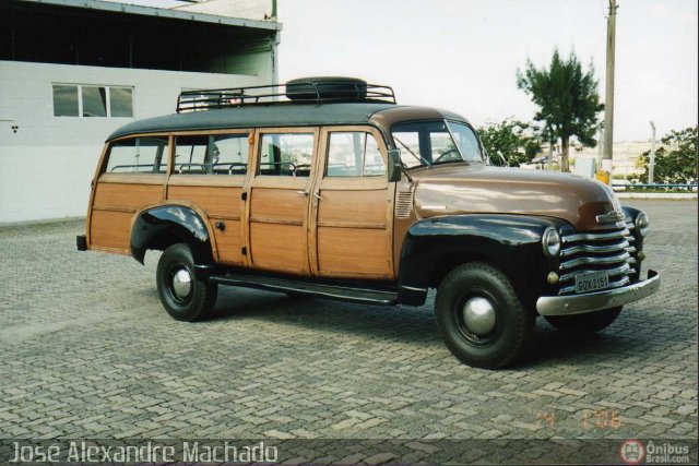
[[[482, 328], [476, 334], [466, 324], [466, 308], [479, 300], [490, 306], [495, 322], [487, 333]], [[522, 306], [507, 276], [483, 263], [461, 265], [442, 279], [435, 315], [449, 350], [466, 365], [484, 369], [518, 360], [534, 330], [534, 315]]]

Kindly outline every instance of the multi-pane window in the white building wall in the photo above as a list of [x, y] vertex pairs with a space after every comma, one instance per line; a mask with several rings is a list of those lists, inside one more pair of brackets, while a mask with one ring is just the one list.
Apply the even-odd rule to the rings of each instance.
[[54, 84], [54, 116], [133, 118], [133, 88]]

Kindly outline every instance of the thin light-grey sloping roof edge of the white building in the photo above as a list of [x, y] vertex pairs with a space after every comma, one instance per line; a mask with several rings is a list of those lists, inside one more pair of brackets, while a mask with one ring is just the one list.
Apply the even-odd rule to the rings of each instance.
[[199, 23], [214, 23], [227, 26], [250, 27], [257, 29], [281, 31], [282, 23], [276, 21], [256, 21], [239, 17], [218, 16], [208, 13], [194, 13], [183, 10], [142, 7], [135, 4], [116, 3], [99, 0], [19, 0], [26, 3], [50, 4], [57, 7], [72, 7], [85, 10], [105, 11], [111, 13], [140, 14], [144, 16], [165, 17], [171, 20], [193, 21]]

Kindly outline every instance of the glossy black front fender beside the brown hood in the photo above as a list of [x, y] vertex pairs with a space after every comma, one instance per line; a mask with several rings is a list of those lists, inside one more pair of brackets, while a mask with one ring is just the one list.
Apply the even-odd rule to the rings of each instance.
[[557, 218], [496, 214], [417, 222], [408, 229], [401, 250], [399, 299], [408, 301], [410, 290], [437, 287], [454, 267], [477, 261], [502, 271], [520, 300], [531, 308], [548, 291], [546, 276], [556, 266], [544, 254], [542, 235], [547, 227], [564, 224]]

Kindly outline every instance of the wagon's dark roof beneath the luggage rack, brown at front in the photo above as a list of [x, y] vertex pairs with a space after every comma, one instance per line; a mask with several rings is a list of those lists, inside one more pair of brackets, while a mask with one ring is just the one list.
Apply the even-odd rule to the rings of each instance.
[[372, 124], [387, 128], [396, 121], [450, 118], [465, 119], [450, 111], [389, 103], [250, 105], [236, 108], [190, 111], [147, 118], [116, 130], [107, 141], [139, 133], [224, 130], [235, 128], [319, 127]]

